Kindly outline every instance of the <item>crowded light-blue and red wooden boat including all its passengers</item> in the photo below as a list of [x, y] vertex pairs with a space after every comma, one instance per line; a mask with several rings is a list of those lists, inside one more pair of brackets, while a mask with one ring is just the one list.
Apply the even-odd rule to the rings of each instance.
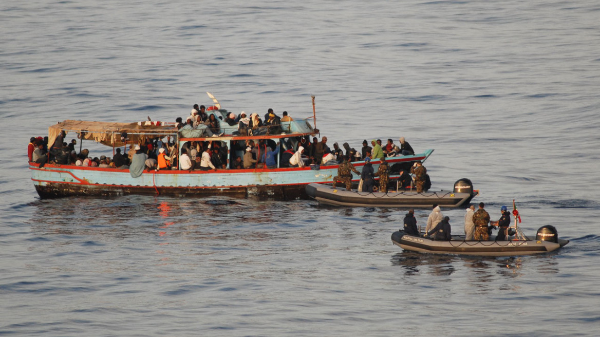
[[[357, 151], [348, 143], [329, 146], [313, 116], [278, 116], [266, 109], [233, 113], [213, 95], [208, 108], [194, 104], [190, 116], [175, 122], [129, 123], [66, 120], [46, 137], [31, 137], [29, 169], [40, 197], [69, 195], [229, 195], [284, 200], [307, 198], [310, 183], [332, 183], [342, 163], [355, 170], [378, 170], [400, 177], [433, 152], [415, 153], [403, 137], [394, 145], [367, 140]], [[70, 142], [67, 142], [69, 136]], [[92, 154], [88, 144], [106, 146]], [[359, 177], [350, 179], [357, 183]]]

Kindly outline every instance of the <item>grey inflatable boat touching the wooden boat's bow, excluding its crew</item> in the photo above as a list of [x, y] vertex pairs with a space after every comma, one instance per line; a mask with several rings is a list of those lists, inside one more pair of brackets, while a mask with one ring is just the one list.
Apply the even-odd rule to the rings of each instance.
[[478, 192], [473, 190], [471, 180], [463, 178], [454, 183], [454, 191], [416, 192], [401, 189], [391, 192], [359, 192], [356, 189], [346, 191], [346, 188], [310, 183], [306, 186], [306, 193], [319, 203], [334, 206], [430, 208], [433, 204], [438, 204], [440, 207], [452, 208], [469, 204]]

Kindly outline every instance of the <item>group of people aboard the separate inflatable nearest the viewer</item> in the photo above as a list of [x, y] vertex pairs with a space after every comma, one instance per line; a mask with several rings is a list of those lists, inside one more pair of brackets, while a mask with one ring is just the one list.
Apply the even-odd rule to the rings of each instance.
[[[464, 239], [467, 241], [487, 241], [490, 240], [492, 230], [497, 229], [498, 233], [494, 240], [509, 240], [509, 237], [514, 233], [509, 232], [511, 213], [508, 212], [506, 206], [500, 207], [500, 218], [497, 221], [490, 221], [490, 214], [484, 207], [484, 203], [479, 203], [477, 210], [475, 210], [474, 205], [467, 208], [464, 215]], [[417, 227], [413, 209], [410, 209], [404, 217], [404, 227], [401, 230], [409, 235], [419, 236], [421, 234]], [[451, 240], [451, 231], [450, 218], [443, 216], [440, 206], [434, 204], [430, 215], [427, 217], [425, 231], [422, 236], [433, 240]]]

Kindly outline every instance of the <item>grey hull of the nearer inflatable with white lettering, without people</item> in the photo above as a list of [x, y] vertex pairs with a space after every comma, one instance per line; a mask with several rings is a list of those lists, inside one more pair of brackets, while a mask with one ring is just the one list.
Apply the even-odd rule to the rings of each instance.
[[544, 254], [565, 246], [569, 240], [558, 239], [558, 243], [539, 240], [512, 241], [465, 241], [464, 237], [452, 236], [450, 241], [436, 241], [413, 236], [404, 231], [395, 231], [392, 242], [407, 251], [431, 254], [459, 254], [478, 256], [515, 256]]

